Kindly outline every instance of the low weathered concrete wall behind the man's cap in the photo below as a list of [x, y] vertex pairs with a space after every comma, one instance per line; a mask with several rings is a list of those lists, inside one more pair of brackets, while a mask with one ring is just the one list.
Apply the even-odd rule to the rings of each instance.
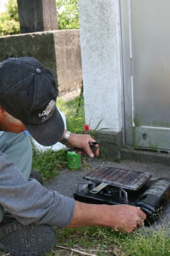
[[61, 96], [82, 83], [80, 32], [56, 30], [0, 37], [0, 61], [29, 56], [52, 70]]

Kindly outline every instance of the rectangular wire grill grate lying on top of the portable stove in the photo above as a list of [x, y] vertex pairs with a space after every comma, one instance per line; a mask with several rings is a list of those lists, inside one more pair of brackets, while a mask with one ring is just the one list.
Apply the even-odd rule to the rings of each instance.
[[150, 180], [150, 177], [152, 177], [150, 173], [105, 167], [101, 165], [84, 176], [84, 179], [95, 183], [104, 182], [110, 186], [117, 186], [129, 190], [138, 190]]

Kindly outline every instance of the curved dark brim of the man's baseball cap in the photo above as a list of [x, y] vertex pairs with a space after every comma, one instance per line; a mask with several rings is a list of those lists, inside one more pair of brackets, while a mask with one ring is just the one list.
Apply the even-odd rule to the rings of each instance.
[[54, 109], [51, 119], [44, 124], [27, 124], [24, 122], [23, 124], [33, 139], [46, 147], [57, 143], [63, 136], [65, 130], [63, 118], [57, 108]]

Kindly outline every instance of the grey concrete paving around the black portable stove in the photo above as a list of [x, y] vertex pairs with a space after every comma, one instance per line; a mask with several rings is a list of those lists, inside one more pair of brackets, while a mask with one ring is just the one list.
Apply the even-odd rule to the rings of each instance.
[[[93, 168], [99, 167], [100, 165], [116, 167], [120, 169], [129, 169], [133, 171], [143, 171], [149, 172], [152, 174], [151, 180], [156, 180], [159, 177], [169, 177], [170, 178], [170, 167], [160, 164], [154, 163], [143, 163], [143, 162], [135, 162], [132, 160], [122, 160], [119, 162], [111, 162], [104, 161], [100, 158], [88, 158], [87, 160], [89, 169], [87, 170], [78, 170], [78, 171], [70, 171], [69, 169], [62, 169], [52, 182], [47, 182], [44, 184], [46, 188], [49, 190], [57, 190], [58, 193], [61, 193], [68, 197], [73, 197], [73, 192], [77, 190], [77, 186], [79, 182], [83, 182], [83, 176], [90, 172]], [[170, 227], [170, 200], [168, 201], [163, 214], [161, 214], [160, 218], [156, 222], [156, 225], [152, 225], [152, 227], [158, 227], [158, 225], [162, 225], [166, 219], [167, 225]]]

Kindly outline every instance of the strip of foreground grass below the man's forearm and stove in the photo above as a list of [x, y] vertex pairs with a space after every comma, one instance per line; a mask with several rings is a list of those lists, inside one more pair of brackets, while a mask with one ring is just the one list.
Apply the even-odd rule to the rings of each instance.
[[[97, 256], [168, 256], [170, 238], [168, 229], [151, 229], [146, 235], [145, 229], [125, 234], [105, 227], [82, 227], [76, 229], [56, 229], [56, 244], [48, 255], [71, 255], [71, 249]], [[65, 251], [63, 246], [69, 248]], [[68, 252], [68, 254], [66, 254]], [[64, 254], [63, 254], [64, 253]], [[81, 255], [73, 252], [73, 255]]]

